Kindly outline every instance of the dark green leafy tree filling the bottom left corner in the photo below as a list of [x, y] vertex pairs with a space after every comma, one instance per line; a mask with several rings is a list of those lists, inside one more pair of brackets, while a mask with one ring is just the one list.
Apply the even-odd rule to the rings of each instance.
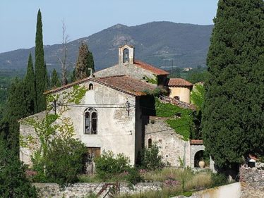
[[9, 149], [3, 138], [0, 138], [0, 197], [34, 198], [37, 197], [35, 187], [25, 176], [25, 166], [18, 155]]

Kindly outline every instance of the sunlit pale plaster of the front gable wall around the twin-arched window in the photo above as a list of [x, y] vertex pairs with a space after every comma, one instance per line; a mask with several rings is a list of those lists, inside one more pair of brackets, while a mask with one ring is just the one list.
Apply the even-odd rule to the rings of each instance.
[[[96, 82], [85, 82], [80, 86], [85, 85], [85, 87], [88, 87], [90, 83], [93, 84], [93, 89], [85, 93], [85, 97], [81, 99], [78, 106], [68, 106], [69, 109], [67, 111], [63, 111], [65, 106], [57, 106], [56, 112], [61, 114], [61, 119], [71, 119], [76, 132], [74, 137], [81, 140], [87, 147], [100, 147], [101, 154], [103, 150], [111, 150], [114, 154], [124, 153], [131, 159], [131, 164], [134, 164], [136, 160], [135, 151], [138, 150], [135, 146], [135, 142], [138, 141], [135, 140], [135, 134], [142, 132], [136, 131], [136, 113], [134, 107], [136, 97]], [[59, 95], [57, 104], [67, 103], [67, 99], [64, 99], [64, 96], [66, 92], [72, 92], [72, 90], [73, 88], [71, 87], [54, 93], [54, 95]], [[126, 108], [124, 108], [126, 101], [131, 105], [129, 116]], [[123, 108], [107, 108], [113, 107], [109, 104], [121, 104], [114, 106]], [[84, 112], [88, 107], [94, 107], [97, 110], [97, 135], [84, 134]], [[34, 129], [31, 128], [29, 130], [28, 126], [21, 123], [20, 132], [25, 132], [25, 129], [27, 132], [35, 133]], [[141, 136], [139, 135], [138, 137]], [[24, 152], [27, 153], [28, 151], [24, 149]], [[25, 163], [30, 163], [30, 161], [27, 159]]]

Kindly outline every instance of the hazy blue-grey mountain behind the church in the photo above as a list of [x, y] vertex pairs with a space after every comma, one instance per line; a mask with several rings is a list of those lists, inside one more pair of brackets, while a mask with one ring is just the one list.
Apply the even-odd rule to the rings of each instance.
[[[135, 47], [136, 59], [166, 68], [172, 66], [205, 66], [213, 25], [192, 25], [172, 22], [152, 22], [128, 27], [117, 24], [89, 37], [68, 43], [68, 60], [71, 68], [76, 63], [81, 40], [95, 59], [95, 70], [113, 66], [118, 62], [118, 47], [128, 42]], [[0, 54], [0, 71], [23, 70], [28, 55], [34, 48], [17, 49]], [[61, 44], [44, 46], [47, 68], [59, 68]]]

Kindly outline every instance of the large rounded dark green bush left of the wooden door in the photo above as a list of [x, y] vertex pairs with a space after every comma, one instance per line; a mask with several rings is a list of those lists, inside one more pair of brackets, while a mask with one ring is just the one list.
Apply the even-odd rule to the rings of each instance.
[[54, 138], [47, 150], [47, 178], [61, 187], [78, 181], [83, 170], [86, 154], [85, 144], [73, 138]]

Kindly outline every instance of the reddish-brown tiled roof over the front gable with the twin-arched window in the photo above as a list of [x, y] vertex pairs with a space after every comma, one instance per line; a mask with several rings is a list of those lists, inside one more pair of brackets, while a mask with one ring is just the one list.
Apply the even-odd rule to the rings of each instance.
[[140, 96], [145, 95], [146, 90], [153, 90], [155, 89], [155, 85], [150, 85], [147, 82], [143, 82], [141, 80], [137, 80], [126, 75], [116, 75], [116, 76], [109, 76], [105, 78], [83, 78], [76, 82], [72, 82], [68, 85], [64, 85], [47, 92], [44, 94], [51, 94], [54, 92], [59, 92], [63, 89], [68, 89], [73, 85], [79, 85], [84, 82], [93, 81], [97, 82], [101, 85], [105, 85], [107, 87], [112, 87], [113, 89], [119, 90], [120, 92], [125, 92], [126, 94], [131, 94], [133, 96]]

